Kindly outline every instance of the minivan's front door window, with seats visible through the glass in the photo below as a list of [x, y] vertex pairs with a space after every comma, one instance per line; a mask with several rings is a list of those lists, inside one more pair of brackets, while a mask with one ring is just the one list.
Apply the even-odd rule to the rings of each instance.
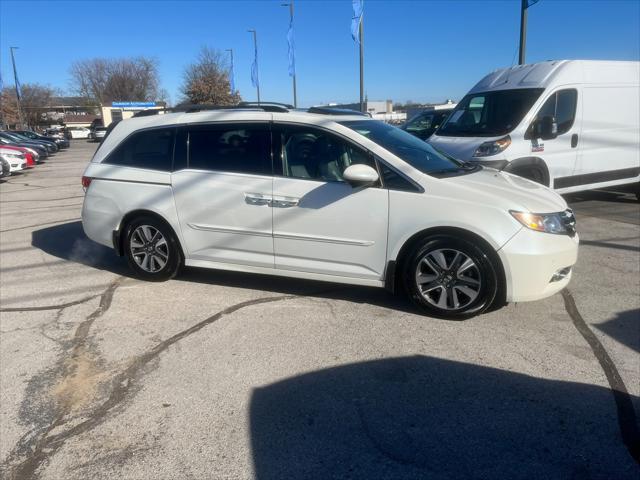
[[344, 182], [343, 173], [350, 165], [365, 164], [376, 168], [367, 152], [323, 130], [281, 127], [279, 139], [285, 177]]

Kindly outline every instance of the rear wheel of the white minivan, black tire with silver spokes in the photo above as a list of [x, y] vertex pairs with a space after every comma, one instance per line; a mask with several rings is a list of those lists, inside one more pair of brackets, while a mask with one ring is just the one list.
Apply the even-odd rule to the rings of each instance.
[[127, 224], [123, 250], [129, 267], [142, 280], [169, 280], [183, 264], [182, 250], [173, 230], [153, 217], [138, 217]]

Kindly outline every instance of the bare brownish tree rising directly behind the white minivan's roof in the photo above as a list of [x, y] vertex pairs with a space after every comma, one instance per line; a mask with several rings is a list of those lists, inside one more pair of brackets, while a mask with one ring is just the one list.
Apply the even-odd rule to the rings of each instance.
[[231, 94], [226, 56], [209, 47], [202, 47], [196, 61], [185, 68], [180, 91], [183, 103], [234, 105], [241, 101], [238, 92]]

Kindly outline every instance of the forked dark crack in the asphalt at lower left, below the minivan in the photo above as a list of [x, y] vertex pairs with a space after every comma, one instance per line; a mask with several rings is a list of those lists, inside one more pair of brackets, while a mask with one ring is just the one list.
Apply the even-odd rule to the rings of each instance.
[[[89, 315], [87, 319], [82, 322], [76, 329], [73, 340], [72, 357], [74, 355], [80, 355], [82, 350], [85, 348], [89, 330], [93, 322], [98, 317], [104, 315], [104, 313], [108, 310], [109, 306], [111, 305], [113, 293], [120, 284], [119, 282], [121, 281], [121, 279], [122, 277], [120, 277], [109, 286], [109, 288], [101, 296], [100, 306], [91, 315]], [[65, 419], [65, 417], [67, 417], [68, 413], [70, 413], [71, 411], [70, 406], [66, 406], [65, 408], [63, 408], [62, 411], [60, 411], [52, 420], [51, 424], [42, 431], [42, 434], [37, 439], [33, 438], [31, 440], [31, 448], [29, 448], [29, 452], [26, 455], [26, 458], [24, 458], [21, 462], [17, 463], [11, 468], [9, 478], [11, 480], [26, 480], [37, 478], [38, 468], [40, 468], [43, 463], [47, 462], [53, 455], [55, 455], [55, 453], [64, 445], [67, 440], [89, 430], [92, 430], [93, 428], [104, 422], [106, 420], [107, 414], [114, 410], [115, 407], [122, 404], [123, 401], [127, 398], [127, 395], [133, 390], [132, 387], [134, 386], [134, 381], [140, 375], [142, 369], [171, 345], [175, 344], [185, 337], [188, 337], [202, 330], [204, 327], [216, 322], [220, 318], [226, 315], [230, 315], [243, 308], [264, 303], [289, 300], [296, 297], [299, 296], [278, 295], [273, 297], [247, 300], [234, 304], [205, 318], [195, 325], [192, 325], [191, 327], [176, 333], [175, 335], [160, 342], [147, 352], [138, 355], [130, 362], [127, 368], [111, 377], [111, 392], [108, 398], [103, 403], [94, 408], [93, 411], [88, 414], [85, 420], [80, 423], [76, 423], [74, 426], [60, 433], [52, 434], [54, 430], [64, 427], [70, 420], [72, 420], [70, 418]], [[69, 372], [66, 372], [66, 375], [68, 376]], [[7, 460], [4, 462], [5, 467], [9, 467], [9, 464], [13, 463], [12, 460], [14, 460], [18, 456], [19, 455], [16, 451], [16, 448], [14, 448], [14, 451], [12, 451]]]

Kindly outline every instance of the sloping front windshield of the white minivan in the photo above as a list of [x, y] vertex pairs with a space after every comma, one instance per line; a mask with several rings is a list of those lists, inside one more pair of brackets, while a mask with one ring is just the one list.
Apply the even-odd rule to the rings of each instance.
[[477, 166], [465, 166], [463, 162], [445, 155], [410, 133], [386, 123], [377, 120], [351, 120], [339, 123], [367, 137], [423, 173], [441, 176], [477, 169]]

